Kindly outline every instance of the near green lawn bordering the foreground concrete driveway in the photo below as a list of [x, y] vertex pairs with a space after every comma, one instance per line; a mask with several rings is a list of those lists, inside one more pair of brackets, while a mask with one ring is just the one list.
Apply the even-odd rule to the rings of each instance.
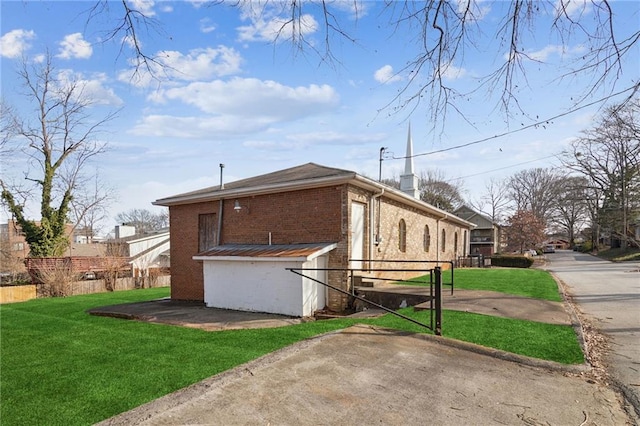
[[[457, 279], [457, 276], [456, 276]], [[91, 316], [166, 297], [146, 289], [0, 306], [2, 424], [92, 424], [297, 341], [356, 323], [425, 332], [392, 315], [276, 329], [205, 332]], [[429, 313], [402, 313], [428, 322]], [[571, 327], [445, 311], [447, 337], [566, 364], [583, 362]]]

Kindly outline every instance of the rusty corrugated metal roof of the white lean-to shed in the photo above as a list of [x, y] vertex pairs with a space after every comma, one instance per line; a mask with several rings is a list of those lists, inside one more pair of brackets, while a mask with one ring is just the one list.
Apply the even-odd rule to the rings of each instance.
[[227, 244], [198, 253], [196, 257], [307, 257], [332, 244]]

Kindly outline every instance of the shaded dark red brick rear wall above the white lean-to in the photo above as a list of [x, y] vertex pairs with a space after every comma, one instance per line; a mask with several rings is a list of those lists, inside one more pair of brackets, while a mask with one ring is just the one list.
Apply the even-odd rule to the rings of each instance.
[[[269, 233], [272, 244], [338, 242], [344, 191], [343, 186], [330, 186], [224, 200], [220, 244], [268, 244]], [[236, 200], [239, 211], [234, 209]], [[198, 216], [217, 215], [218, 209], [218, 201], [169, 208], [171, 298], [204, 300], [202, 262], [192, 259], [198, 254]]]

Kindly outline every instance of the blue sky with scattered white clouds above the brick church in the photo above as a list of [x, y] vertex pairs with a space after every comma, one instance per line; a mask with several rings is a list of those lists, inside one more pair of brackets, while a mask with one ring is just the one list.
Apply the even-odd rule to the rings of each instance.
[[[563, 114], [593, 80], [593, 74], [557, 79], [585, 54], [585, 46], [578, 35], [560, 40], [552, 34], [553, 10], [541, 15], [522, 42], [532, 60], [523, 64], [527, 78], [517, 81], [517, 90], [529, 115], [507, 117], [500, 109], [500, 91], [480, 87], [479, 78], [506, 53], [494, 34], [510, 4], [478, 2], [482, 33], [445, 74], [447, 84], [475, 92], [459, 99], [460, 112], [450, 109], [434, 128], [428, 101], [394, 108], [409, 77], [402, 69], [417, 54], [418, 39], [415, 27], [394, 29], [381, 2], [361, 2], [357, 19], [353, 2], [330, 5], [356, 40], [333, 39], [338, 59], [333, 64], [286, 40], [274, 42], [273, 28], [282, 17], [276, 7], [258, 15], [228, 4], [131, 3], [158, 24], [159, 31], [140, 36], [144, 50], [171, 67], [162, 81], [145, 73], [132, 77], [126, 43], [122, 49], [120, 37], [105, 41], [119, 2], [110, 3], [111, 15], [89, 23], [92, 1], [0, 3], [5, 102], [28, 113], [15, 71], [22, 57], [37, 61], [48, 50], [58, 71], [81, 79], [99, 99], [92, 110], [96, 117], [119, 110], [100, 134], [110, 150], [91, 165], [118, 196], [112, 216], [131, 208], [155, 210], [155, 199], [217, 185], [220, 163], [227, 182], [311, 161], [377, 178], [380, 148], [388, 147], [383, 177], [397, 177], [404, 167], [409, 122], [416, 170], [437, 169], [459, 179], [465, 195], [477, 198], [491, 178], [558, 166], [554, 156], [593, 124], [599, 108], [622, 100], [613, 97], [544, 125], [451, 149]], [[640, 5], [612, 5], [617, 36], [624, 39], [638, 31]], [[590, 3], [574, 2], [572, 9], [587, 19], [594, 14]], [[321, 15], [317, 8], [307, 11], [305, 36], [322, 51]], [[639, 57], [636, 45], [615, 86], [594, 92], [587, 102], [637, 83]], [[2, 162], [3, 178], [22, 175], [25, 162], [17, 154]]]

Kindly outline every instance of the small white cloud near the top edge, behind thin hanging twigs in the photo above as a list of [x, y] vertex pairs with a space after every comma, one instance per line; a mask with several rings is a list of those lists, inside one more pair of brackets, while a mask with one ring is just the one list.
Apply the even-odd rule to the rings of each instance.
[[290, 17], [268, 16], [261, 14], [245, 13], [243, 19], [249, 19], [250, 25], [238, 27], [238, 40], [240, 41], [290, 41], [313, 34], [318, 30], [318, 22], [312, 15], [302, 15], [298, 22], [291, 22]]

